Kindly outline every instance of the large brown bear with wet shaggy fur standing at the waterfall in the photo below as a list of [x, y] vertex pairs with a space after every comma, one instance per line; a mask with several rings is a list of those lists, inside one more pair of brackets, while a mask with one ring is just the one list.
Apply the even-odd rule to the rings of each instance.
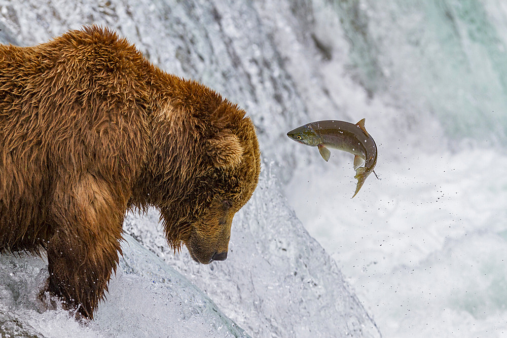
[[108, 29], [0, 45], [0, 253], [46, 250], [47, 290], [84, 317], [116, 271], [127, 210], [155, 206], [174, 250], [224, 260], [259, 173], [244, 110]]

